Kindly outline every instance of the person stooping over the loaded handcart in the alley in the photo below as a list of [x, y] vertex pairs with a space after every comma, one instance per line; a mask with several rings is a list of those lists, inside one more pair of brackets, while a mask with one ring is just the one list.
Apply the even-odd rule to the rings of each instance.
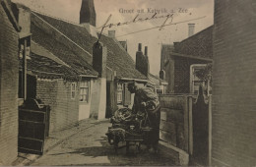
[[139, 86], [136, 83], [128, 83], [128, 90], [135, 93], [133, 112], [146, 111], [148, 114], [148, 126], [151, 131], [145, 139], [148, 149], [153, 146], [155, 152], [158, 152], [160, 138], [160, 101], [158, 95], [149, 87]]

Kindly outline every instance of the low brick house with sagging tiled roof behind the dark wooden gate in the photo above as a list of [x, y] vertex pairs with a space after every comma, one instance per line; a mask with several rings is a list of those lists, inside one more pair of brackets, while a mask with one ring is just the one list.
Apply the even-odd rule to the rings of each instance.
[[[51, 107], [49, 133], [74, 126], [82, 117], [79, 112], [82, 94], [78, 86], [84, 84], [85, 87], [85, 83], [91, 83], [92, 79], [81, 78], [74, 68], [56, 58], [54, 61], [49, 56], [33, 52], [27, 69], [31, 74], [28, 75], [28, 98], [38, 98]], [[83, 96], [84, 99], [88, 96]]]

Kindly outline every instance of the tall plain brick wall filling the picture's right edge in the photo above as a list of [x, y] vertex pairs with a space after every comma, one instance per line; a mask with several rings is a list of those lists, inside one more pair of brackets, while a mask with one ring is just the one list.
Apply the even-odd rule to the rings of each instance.
[[255, 166], [256, 3], [216, 0], [213, 166]]

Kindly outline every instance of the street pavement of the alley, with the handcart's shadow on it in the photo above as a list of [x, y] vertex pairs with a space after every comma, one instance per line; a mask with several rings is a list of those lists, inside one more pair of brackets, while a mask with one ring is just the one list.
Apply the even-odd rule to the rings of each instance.
[[[169, 157], [162, 157], [154, 151], [138, 152], [135, 145], [130, 147], [130, 153], [126, 154], [125, 147], [115, 153], [114, 148], [107, 142], [105, 133], [110, 126], [108, 122], [88, 122], [86, 127], [78, 126], [74, 135], [51, 148], [40, 158], [36, 159], [32, 166], [172, 166], [174, 163]], [[85, 125], [83, 125], [85, 127]], [[124, 145], [120, 143], [120, 146]]]

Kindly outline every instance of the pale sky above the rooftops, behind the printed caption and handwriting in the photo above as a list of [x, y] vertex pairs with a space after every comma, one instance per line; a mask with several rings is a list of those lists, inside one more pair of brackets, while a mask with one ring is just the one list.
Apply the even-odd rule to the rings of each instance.
[[[82, 0], [12, 1], [22, 3], [37, 12], [79, 24]], [[134, 20], [137, 15], [139, 15], [138, 19], [151, 18], [155, 12], [158, 13], [156, 17], [165, 17], [120, 27], [104, 28], [103, 31], [107, 34], [107, 30], [114, 29], [117, 40], [127, 40], [128, 53], [134, 60], [138, 43], [142, 43], [143, 51], [144, 47], [148, 46], [150, 70], [154, 75], [159, 75], [160, 72], [160, 47], [162, 43], [172, 44], [187, 38], [188, 24], [195, 24], [196, 33], [214, 23], [214, 0], [95, 0], [95, 7], [97, 30], [101, 30], [100, 27], [104, 25], [110, 15], [111, 19], [108, 24], [129, 22]], [[169, 23], [176, 23], [176, 25], [162, 29], [156, 28], [164, 23], [168, 14], [173, 14], [173, 16], [166, 21], [165, 25]], [[145, 30], [147, 28], [154, 29]], [[140, 32], [133, 33], [136, 31]]]

